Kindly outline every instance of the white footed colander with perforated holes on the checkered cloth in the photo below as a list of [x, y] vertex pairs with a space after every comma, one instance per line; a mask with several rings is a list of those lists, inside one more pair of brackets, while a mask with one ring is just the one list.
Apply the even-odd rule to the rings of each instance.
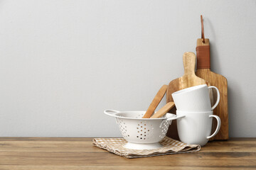
[[156, 149], [162, 147], [159, 141], [165, 136], [171, 120], [177, 117], [166, 113], [163, 118], [142, 118], [146, 111], [104, 111], [116, 118], [122, 136], [127, 140], [124, 147], [129, 149]]

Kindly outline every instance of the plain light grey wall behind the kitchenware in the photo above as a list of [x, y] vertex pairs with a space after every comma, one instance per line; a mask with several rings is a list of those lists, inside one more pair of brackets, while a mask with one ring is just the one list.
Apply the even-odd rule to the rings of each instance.
[[212, 71], [228, 79], [230, 137], [256, 137], [255, 9], [241, 0], [2, 0], [0, 136], [119, 137], [103, 110], [146, 110], [181, 77], [203, 14]]

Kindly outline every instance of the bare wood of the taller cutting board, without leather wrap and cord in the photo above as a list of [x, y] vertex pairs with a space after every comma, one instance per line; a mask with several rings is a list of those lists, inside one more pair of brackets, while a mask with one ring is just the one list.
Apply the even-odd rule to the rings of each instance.
[[[205, 43], [200, 38], [197, 40], [197, 46], [210, 45], [210, 41], [206, 38]], [[196, 75], [206, 79], [212, 86], [216, 86], [220, 91], [220, 103], [213, 110], [214, 115], [218, 115], [221, 120], [220, 131], [211, 140], [228, 140], [228, 81], [225, 77], [210, 69], [197, 69]], [[213, 91], [213, 101], [216, 101], [217, 94]], [[213, 132], [217, 126], [216, 120], [213, 120]]]

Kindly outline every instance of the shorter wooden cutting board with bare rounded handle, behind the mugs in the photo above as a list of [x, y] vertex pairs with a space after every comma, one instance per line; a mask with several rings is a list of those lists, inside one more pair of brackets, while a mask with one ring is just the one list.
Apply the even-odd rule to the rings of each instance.
[[[181, 89], [186, 89], [191, 86], [197, 86], [201, 84], [210, 85], [206, 80], [197, 77], [195, 74], [196, 67], [196, 55], [193, 52], [185, 52], [183, 55], [183, 66], [184, 66], [184, 74], [183, 77], [179, 77], [178, 79], [174, 79], [169, 83], [167, 93], [166, 93], [166, 103], [170, 101], [174, 101], [171, 97], [171, 94], [175, 91], [179, 91]], [[176, 107], [172, 108], [170, 113], [176, 113]], [[167, 136], [178, 140], [178, 131], [176, 121], [173, 121], [169, 127], [169, 131], [167, 132]]]

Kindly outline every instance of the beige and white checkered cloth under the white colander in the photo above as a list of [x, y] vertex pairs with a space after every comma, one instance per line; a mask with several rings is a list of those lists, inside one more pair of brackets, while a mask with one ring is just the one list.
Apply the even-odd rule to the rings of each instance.
[[127, 143], [123, 138], [95, 138], [92, 142], [96, 147], [106, 149], [109, 152], [127, 158], [197, 152], [201, 149], [200, 145], [188, 145], [178, 140], [173, 140], [170, 137], [164, 137], [164, 139], [160, 141], [163, 147], [159, 149], [127, 149], [123, 147], [123, 145]]

